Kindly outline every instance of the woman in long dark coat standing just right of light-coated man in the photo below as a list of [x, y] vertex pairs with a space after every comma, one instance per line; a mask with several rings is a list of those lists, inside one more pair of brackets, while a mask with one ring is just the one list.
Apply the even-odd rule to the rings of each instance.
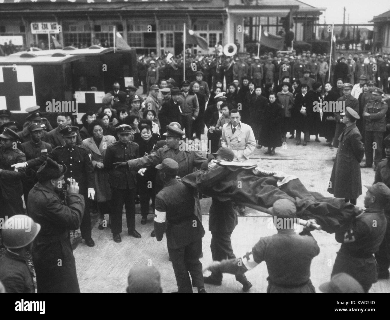
[[276, 93], [269, 93], [269, 102], [264, 109], [264, 121], [259, 144], [266, 146], [266, 155], [275, 155], [275, 148], [282, 146], [283, 106], [276, 101]]

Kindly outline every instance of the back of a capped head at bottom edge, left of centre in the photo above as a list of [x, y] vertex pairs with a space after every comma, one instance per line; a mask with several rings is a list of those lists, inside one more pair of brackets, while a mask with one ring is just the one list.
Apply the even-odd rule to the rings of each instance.
[[130, 269], [127, 281], [127, 293], [163, 293], [163, 289], [161, 288], [160, 273], [156, 267], [152, 265], [135, 265]]

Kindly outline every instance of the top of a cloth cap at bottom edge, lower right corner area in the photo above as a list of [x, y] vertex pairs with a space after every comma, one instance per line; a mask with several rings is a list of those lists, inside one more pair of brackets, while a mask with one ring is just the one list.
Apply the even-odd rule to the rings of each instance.
[[321, 284], [319, 290], [331, 294], [364, 293], [360, 283], [344, 272], [335, 274], [329, 282]]

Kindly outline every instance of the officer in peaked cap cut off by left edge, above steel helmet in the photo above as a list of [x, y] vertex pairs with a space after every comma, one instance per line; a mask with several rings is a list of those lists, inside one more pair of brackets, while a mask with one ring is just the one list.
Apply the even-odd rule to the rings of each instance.
[[16, 148], [20, 138], [10, 128], [0, 134], [0, 218], [23, 213], [22, 179], [25, 170], [14, 171], [12, 165], [26, 161], [25, 154]]

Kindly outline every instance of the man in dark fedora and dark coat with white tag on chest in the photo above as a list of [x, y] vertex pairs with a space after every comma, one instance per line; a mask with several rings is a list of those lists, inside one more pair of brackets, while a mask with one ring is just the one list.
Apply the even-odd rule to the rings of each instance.
[[167, 125], [180, 122], [183, 113], [183, 99], [178, 87], [170, 89], [170, 99], [163, 103], [160, 111], [161, 134], [167, 132]]

